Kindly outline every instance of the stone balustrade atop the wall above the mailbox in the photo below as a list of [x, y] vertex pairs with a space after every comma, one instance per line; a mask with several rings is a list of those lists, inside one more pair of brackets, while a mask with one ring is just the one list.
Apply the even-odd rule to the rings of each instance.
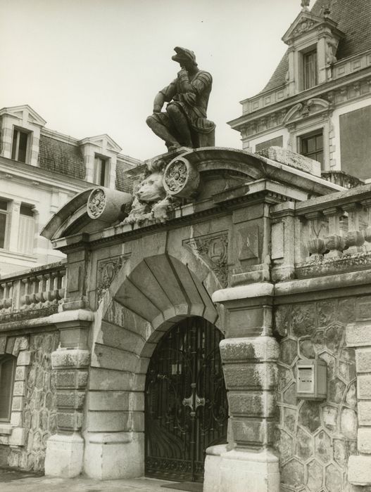
[[[273, 280], [369, 268], [370, 208], [370, 185], [307, 202], [272, 207], [272, 235], [276, 240], [272, 251]], [[291, 238], [285, 238], [277, 231], [292, 216], [293, 233]]]

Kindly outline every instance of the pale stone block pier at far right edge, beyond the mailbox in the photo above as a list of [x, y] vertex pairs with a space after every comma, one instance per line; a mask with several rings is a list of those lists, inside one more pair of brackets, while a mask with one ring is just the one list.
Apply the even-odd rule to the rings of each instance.
[[356, 351], [359, 455], [348, 460], [348, 481], [356, 492], [371, 486], [371, 325], [347, 325], [346, 344]]

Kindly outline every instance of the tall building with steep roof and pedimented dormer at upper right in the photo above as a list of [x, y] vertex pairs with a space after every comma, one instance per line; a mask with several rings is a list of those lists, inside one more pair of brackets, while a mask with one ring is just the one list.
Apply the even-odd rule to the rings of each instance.
[[303, 8], [282, 37], [287, 53], [270, 81], [229, 122], [242, 148], [277, 145], [321, 162], [329, 177], [371, 178], [370, 15], [368, 0]]

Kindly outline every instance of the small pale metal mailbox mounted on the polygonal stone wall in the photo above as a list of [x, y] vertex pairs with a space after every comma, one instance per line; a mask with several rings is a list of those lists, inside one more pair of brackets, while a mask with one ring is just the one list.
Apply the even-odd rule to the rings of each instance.
[[327, 364], [320, 358], [296, 363], [296, 396], [306, 400], [323, 400], [327, 396]]

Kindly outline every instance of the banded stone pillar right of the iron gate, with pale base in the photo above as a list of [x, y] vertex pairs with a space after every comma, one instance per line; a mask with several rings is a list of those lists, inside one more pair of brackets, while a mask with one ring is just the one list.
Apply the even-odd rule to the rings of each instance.
[[221, 452], [214, 466], [210, 459], [214, 450], [208, 450], [206, 492], [279, 491], [278, 458], [271, 451], [279, 356], [272, 337], [273, 292], [271, 283], [256, 283], [213, 295], [213, 301], [223, 304], [228, 316], [220, 353], [234, 448]]

